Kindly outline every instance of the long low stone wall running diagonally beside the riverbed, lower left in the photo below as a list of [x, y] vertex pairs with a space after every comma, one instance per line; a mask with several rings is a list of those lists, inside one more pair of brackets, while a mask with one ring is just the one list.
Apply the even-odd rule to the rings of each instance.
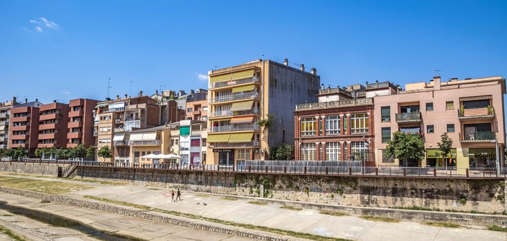
[[182, 227], [189, 227], [193, 229], [200, 229], [204, 231], [212, 231], [216, 233], [224, 233], [228, 235], [236, 235], [239, 237], [253, 238], [256, 240], [271, 240], [271, 241], [286, 241], [287, 238], [278, 237], [269, 233], [263, 233], [262, 231], [251, 231], [240, 227], [228, 227], [218, 223], [205, 223], [204, 221], [192, 220], [190, 218], [183, 218], [170, 216], [165, 213], [157, 213], [155, 211], [146, 211], [143, 209], [135, 209], [131, 207], [122, 207], [119, 205], [112, 205], [100, 201], [90, 201], [80, 198], [70, 198], [67, 196], [52, 195], [46, 193], [38, 193], [35, 191], [25, 191], [20, 189], [12, 189], [8, 187], [0, 187], [0, 192], [11, 193], [19, 196], [26, 196], [30, 198], [36, 198], [40, 200], [48, 200], [59, 204], [72, 205], [75, 207], [82, 207], [86, 209], [94, 209], [99, 211], [106, 211], [108, 213], [115, 213], [123, 216], [129, 216], [133, 218], [142, 218], [145, 220], [151, 220], [155, 222], [163, 222], [167, 224], [174, 224]]

